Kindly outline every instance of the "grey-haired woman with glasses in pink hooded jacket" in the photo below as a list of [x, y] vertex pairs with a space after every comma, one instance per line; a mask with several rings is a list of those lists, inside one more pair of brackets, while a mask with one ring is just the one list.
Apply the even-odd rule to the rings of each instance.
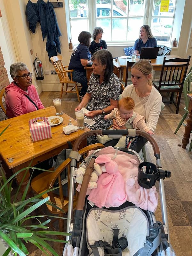
[[44, 108], [35, 86], [32, 73], [23, 62], [10, 66], [12, 83], [5, 88], [6, 115], [8, 118], [20, 116]]

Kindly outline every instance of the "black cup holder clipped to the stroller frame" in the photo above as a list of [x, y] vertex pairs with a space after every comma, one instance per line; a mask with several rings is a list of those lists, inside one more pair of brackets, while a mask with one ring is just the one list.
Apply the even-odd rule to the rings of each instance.
[[156, 169], [156, 165], [150, 162], [142, 162], [138, 166], [138, 183], [143, 188], [152, 188], [156, 180], [170, 178], [171, 172]]

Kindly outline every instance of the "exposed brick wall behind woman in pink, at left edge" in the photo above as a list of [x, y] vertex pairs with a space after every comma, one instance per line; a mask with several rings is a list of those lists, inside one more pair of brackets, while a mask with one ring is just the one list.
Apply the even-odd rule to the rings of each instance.
[[[9, 84], [9, 78], [7, 76], [7, 70], [4, 67], [4, 59], [3, 59], [3, 53], [1, 52], [1, 46], [0, 46], [0, 91]], [[0, 99], [1, 100], [1, 99]], [[4, 102], [4, 99], [3, 99]], [[5, 105], [5, 103], [3, 103]], [[0, 121], [6, 119], [6, 116], [3, 112], [3, 110], [0, 108]]]

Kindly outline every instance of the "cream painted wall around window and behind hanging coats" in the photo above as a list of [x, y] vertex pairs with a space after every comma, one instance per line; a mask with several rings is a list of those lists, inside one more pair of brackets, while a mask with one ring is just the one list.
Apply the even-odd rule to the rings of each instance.
[[[68, 65], [71, 50], [68, 48], [69, 36], [67, 35], [67, 22], [65, 14], [65, 1], [63, 2], [63, 8], [54, 8], [57, 21], [62, 36], [60, 36], [61, 42], [61, 55], [63, 56], [64, 65]], [[52, 64], [49, 62], [48, 54], [45, 50], [46, 39], [43, 42], [40, 25], [36, 27], [35, 34], [32, 34], [28, 29], [28, 21], [25, 16], [25, 7], [28, 0], [1, 0], [6, 10], [6, 18], [8, 26], [10, 27], [10, 37], [12, 37], [13, 47], [12, 51], [15, 52], [16, 61], [25, 62], [31, 70], [33, 70], [33, 60], [35, 54], [38, 53], [39, 59], [43, 63], [43, 69], [49, 71], [49, 75], [44, 75], [44, 80], [36, 81], [33, 77], [33, 84], [36, 86], [38, 92], [43, 91], [60, 91], [60, 83], [57, 75], [51, 75], [50, 70], [54, 70]], [[37, 0], [31, 0], [36, 3]], [[46, 2], [46, 0], [45, 0]], [[56, 0], [50, 0], [50, 2], [56, 2]], [[178, 55], [180, 57], [192, 56], [192, 4], [191, 0], [178, 0], [178, 3], [183, 6], [185, 3], [184, 14], [181, 27], [180, 37], [177, 38], [177, 47], [172, 48], [172, 55]], [[1, 6], [1, 5], [0, 5]], [[182, 7], [183, 8], [183, 7]], [[179, 15], [177, 13], [176, 15]], [[180, 21], [180, 22], [181, 22]], [[83, 28], [82, 28], [83, 30]], [[6, 31], [7, 32], [7, 31]], [[6, 34], [6, 33], [5, 33]], [[7, 35], [6, 35], [7, 36]], [[8, 40], [9, 41], [9, 40]], [[10, 43], [11, 44], [11, 43]], [[124, 55], [124, 46], [108, 46], [108, 50], [112, 53], [113, 57]], [[30, 49], [33, 50], [33, 54], [30, 54]], [[5, 53], [6, 54], [6, 53]], [[12, 60], [11, 60], [12, 62]], [[191, 62], [192, 63], [192, 62]], [[7, 63], [9, 65], [10, 63]], [[33, 70], [34, 73], [34, 70]]]

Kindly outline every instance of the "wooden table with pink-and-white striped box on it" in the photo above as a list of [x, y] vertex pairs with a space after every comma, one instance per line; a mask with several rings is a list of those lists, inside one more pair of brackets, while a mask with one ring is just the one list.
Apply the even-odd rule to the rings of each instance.
[[[0, 159], [8, 169], [15, 173], [22, 168], [28, 167], [29, 164], [34, 166], [43, 162], [59, 154], [62, 149], [68, 148], [67, 141], [73, 144], [79, 136], [89, 131], [85, 127], [84, 130], [77, 130], [66, 135], [62, 128], [68, 125], [69, 119], [71, 119], [71, 123], [74, 125], [77, 125], [77, 122], [63, 113], [60, 115], [63, 118], [63, 122], [51, 127], [52, 138], [33, 142], [29, 132], [29, 120], [35, 117], [55, 116], [55, 113], [55, 107], [52, 106], [0, 122], [0, 132], [9, 125], [0, 136]], [[86, 146], [86, 141], [84, 141], [82, 147], [84, 146]], [[21, 182], [23, 175], [24, 172], [21, 172], [16, 176], [18, 182]], [[25, 188], [29, 175], [29, 172], [27, 172], [22, 189]]]

